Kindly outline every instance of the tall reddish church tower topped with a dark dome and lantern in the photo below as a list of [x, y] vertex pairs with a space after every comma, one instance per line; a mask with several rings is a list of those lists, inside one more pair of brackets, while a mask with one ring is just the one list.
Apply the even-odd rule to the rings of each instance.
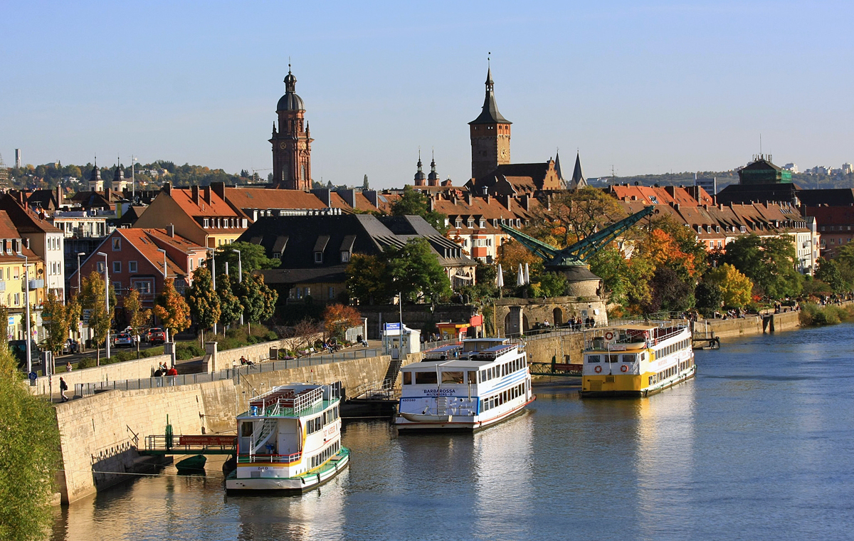
[[272, 125], [272, 183], [284, 190], [312, 189], [312, 141], [305, 122], [306, 107], [295, 93], [296, 78], [284, 78], [284, 96], [276, 106], [276, 123]]

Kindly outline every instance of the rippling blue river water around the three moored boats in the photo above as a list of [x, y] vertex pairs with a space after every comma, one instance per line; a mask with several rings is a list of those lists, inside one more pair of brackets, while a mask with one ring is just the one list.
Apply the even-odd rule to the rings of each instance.
[[729, 340], [646, 399], [535, 385], [515, 419], [401, 435], [349, 421], [348, 471], [301, 497], [226, 497], [173, 467], [56, 511], [56, 540], [851, 539], [854, 326]]

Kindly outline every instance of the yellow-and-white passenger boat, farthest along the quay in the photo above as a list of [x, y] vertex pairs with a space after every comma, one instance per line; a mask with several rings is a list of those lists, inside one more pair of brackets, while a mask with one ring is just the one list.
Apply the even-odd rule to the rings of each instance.
[[646, 397], [693, 378], [691, 328], [670, 322], [595, 329], [584, 340], [582, 397]]

